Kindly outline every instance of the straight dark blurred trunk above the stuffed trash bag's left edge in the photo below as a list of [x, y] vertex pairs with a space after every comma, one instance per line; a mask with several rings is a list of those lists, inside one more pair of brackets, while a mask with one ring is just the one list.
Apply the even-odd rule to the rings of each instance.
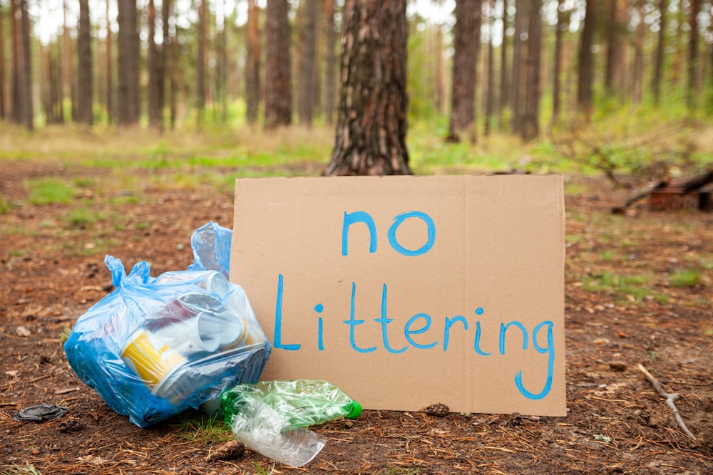
[[91, 58], [91, 24], [89, 0], [79, 0], [79, 32], [77, 35], [77, 122], [92, 125], [94, 88]]

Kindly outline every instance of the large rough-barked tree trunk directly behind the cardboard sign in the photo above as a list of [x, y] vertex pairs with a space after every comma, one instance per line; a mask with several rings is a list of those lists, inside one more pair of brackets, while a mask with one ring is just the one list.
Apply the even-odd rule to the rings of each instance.
[[406, 0], [347, 0], [337, 137], [326, 175], [411, 174]]

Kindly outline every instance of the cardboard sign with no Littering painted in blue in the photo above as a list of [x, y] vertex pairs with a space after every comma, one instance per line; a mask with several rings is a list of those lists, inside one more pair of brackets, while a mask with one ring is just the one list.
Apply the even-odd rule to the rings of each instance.
[[230, 279], [262, 380], [366, 409], [565, 415], [559, 175], [237, 179]]

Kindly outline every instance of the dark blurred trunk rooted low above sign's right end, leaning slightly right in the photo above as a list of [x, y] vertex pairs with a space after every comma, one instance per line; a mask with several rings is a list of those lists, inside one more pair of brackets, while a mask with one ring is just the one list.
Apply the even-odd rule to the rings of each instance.
[[542, 1], [530, 5], [528, 15], [528, 57], [526, 63], [527, 87], [523, 127], [520, 137], [533, 140], [540, 133], [540, 59], [542, 55]]

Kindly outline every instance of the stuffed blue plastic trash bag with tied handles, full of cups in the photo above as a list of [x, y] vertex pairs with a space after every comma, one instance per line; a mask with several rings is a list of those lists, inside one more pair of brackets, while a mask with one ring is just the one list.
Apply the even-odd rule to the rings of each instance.
[[151, 278], [148, 263], [127, 276], [119, 259], [104, 262], [117, 288], [78, 318], [64, 350], [111, 409], [147, 427], [257, 382], [272, 346], [240, 286], [217, 271]]

